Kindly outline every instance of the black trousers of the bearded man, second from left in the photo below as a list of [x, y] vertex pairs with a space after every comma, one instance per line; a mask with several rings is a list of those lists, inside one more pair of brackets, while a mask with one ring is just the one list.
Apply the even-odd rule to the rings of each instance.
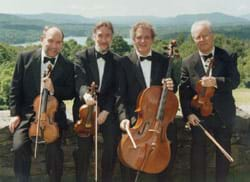
[[[117, 159], [117, 145], [120, 138], [118, 121], [114, 115], [110, 113], [105, 123], [102, 124], [99, 129], [104, 140], [101, 160], [101, 181], [112, 182]], [[77, 182], [88, 181], [90, 159], [93, 149], [93, 136], [77, 136], [77, 148], [73, 152]]]

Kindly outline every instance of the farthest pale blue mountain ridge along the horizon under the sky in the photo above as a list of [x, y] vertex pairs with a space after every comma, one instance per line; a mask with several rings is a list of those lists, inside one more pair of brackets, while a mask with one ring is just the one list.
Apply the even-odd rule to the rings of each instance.
[[[100, 20], [109, 20], [113, 24], [120, 25], [133, 25], [138, 21], [148, 21], [154, 25], [173, 25], [183, 26], [191, 25], [194, 21], [206, 19], [211, 21], [215, 25], [239, 25], [250, 24], [250, 21], [245, 17], [235, 17], [226, 15], [223, 13], [203, 13], [203, 14], [185, 14], [178, 15], [176, 17], [155, 17], [155, 16], [104, 16], [87, 18], [80, 15], [67, 15], [67, 14], [55, 14], [55, 13], [42, 13], [34, 15], [17, 15], [26, 19], [36, 19], [42, 21], [54, 22], [57, 24], [94, 24]], [[250, 15], [249, 15], [250, 16]]]

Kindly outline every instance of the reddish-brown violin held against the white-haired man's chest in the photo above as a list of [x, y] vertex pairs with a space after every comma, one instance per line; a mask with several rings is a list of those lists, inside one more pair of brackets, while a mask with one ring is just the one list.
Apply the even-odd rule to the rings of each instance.
[[[214, 57], [210, 59], [206, 76], [209, 76], [211, 69], [214, 64]], [[207, 117], [213, 112], [213, 103], [211, 98], [214, 96], [215, 87], [203, 87], [199, 80], [196, 84], [195, 91], [196, 95], [192, 98], [191, 106], [196, 110], [200, 111], [201, 116]]]

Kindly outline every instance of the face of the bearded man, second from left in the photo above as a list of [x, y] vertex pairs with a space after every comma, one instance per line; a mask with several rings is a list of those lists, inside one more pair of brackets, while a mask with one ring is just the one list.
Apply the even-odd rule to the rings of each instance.
[[102, 26], [93, 34], [93, 39], [100, 51], [105, 52], [112, 43], [112, 31], [108, 27]]

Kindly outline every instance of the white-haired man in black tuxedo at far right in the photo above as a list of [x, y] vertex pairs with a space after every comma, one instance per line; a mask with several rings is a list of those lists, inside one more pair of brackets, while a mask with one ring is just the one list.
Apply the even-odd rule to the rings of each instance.
[[[192, 129], [191, 181], [200, 182], [206, 181], [207, 138], [197, 124], [200, 123], [211, 131], [215, 139], [230, 153], [235, 118], [232, 89], [238, 86], [240, 76], [236, 60], [233, 60], [225, 50], [215, 47], [210, 22], [195, 22], [191, 34], [198, 51], [183, 61], [179, 93], [183, 117]], [[211, 57], [214, 62], [212, 69], [208, 71]], [[211, 98], [213, 111], [207, 117], [191, 107], [192, 98], [197, 94], [196, 84], [199, 80], [203, 87], [215, 88], [214, 96]], [[219, 150], [216, 150], [216, 181], [226, 181], [228, 170], [229, 162]]]

